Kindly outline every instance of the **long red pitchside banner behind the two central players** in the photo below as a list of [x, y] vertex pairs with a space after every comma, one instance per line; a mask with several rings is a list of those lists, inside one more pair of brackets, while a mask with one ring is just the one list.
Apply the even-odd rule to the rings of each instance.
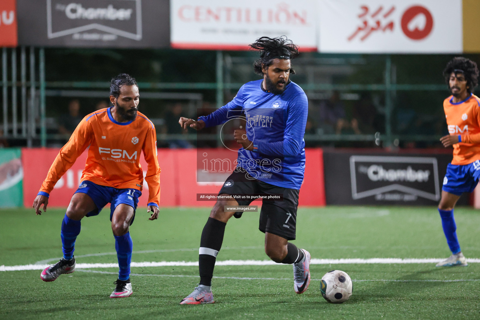
[[[216, 149], [204, 149], [201, 152], [215, 152]], [[24, 201], [25, 207], [31, 207], [36, 194], [47, 176], [53, 160], [60, 149], [22, 149], [22, 161], [25, 170]], [[325, 205], [323, 161], [321, 149], [305, 150], [306, 169], [305, 179], [300, 189], [300, 205], [320, 206]], [[70, 203], [73, 192], [80, 185], [80, 178], [85, 166], [87, 151], [77, 158], [73, 166], [57, 182], [48, 199], [49, 207], [64, 207]], [[211, 201], [198, 201], [199, 194], [217, 194], [223, 182], [204, 182], [198, 180], [197, 150], [195, 149], [159, 149], [158, 163], [160, 173], [160, 206], [195, 206], [212, 207], [215, 199]], [[140, 164], [146, 174], [147, 164], [143, 155]], [[144, 182], [139, 206], [146, 207], [148, 201], [148, 186]], [[256, 200], [258, 203], [260, 201]]]

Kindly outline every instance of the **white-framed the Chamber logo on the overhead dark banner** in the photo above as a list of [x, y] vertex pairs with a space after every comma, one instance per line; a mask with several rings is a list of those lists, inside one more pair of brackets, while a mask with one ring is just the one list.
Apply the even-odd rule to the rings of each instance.
[[141, 0], [47, 0], [48, 39], [142, 40]]

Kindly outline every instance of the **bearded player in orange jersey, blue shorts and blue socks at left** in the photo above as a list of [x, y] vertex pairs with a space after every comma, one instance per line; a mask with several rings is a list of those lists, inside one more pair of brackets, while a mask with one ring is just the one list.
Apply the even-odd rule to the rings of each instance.
[[111, 298], [132, 294], [130, 262], [132, 238], [129, 227], [135, 217], [138, 198], [142, 195], [144, 175], [140, 166], [143, 151], [148, 164], [145, 181], [148, 184], [148, 209], [158, 217], [160, 200], [160, 167], [156, 154], [156, 132], [152, 122], [138, 112], [138, 86], [128, 74], [119, 74], [110, 83], [110, 102], [113, 107], [87, 115], [77, 126], [53, 162], [35, 198], [33, 207], [41, 214], [47, 211], [48, 196], [55, 183], [88, 147], [88, 157], [80, 186], [72, 196], [61, 225], [63, 258], [42, 271], [43, 281], [54, 281], [60, 274], [75, 270], [73, 257], [75, 239], [80, 234], [84, 216], [100, 213], [110, 204], [110, 221], [119, 262], [119, 277]]

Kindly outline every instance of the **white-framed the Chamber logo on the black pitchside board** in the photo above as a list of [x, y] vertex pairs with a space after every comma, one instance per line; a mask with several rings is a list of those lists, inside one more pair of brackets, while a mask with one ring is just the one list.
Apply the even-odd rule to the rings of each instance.
[[433, 157], [350, 156], [352, 199], [440, 200], [438, 164]]

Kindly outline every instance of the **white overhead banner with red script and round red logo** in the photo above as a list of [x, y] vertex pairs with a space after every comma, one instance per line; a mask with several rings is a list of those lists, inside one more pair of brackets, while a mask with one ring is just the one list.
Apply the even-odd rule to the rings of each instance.
[[318, 0], [318, 50], [461, 53], [462, 0]]

